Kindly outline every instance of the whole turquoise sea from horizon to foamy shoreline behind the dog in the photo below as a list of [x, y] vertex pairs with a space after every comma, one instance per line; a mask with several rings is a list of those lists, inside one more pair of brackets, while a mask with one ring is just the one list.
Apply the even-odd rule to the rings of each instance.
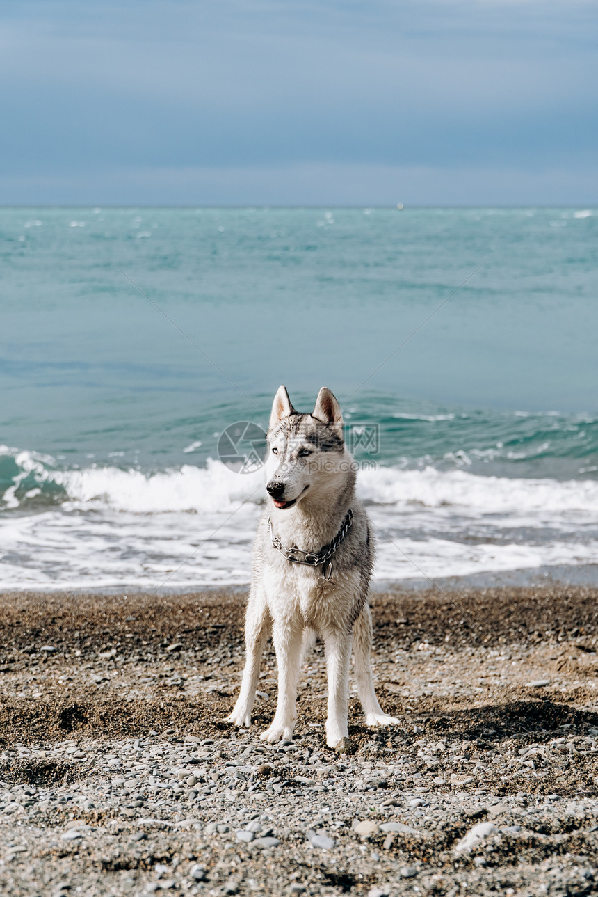
[[342, 405], [378, 588], [598, 582], [597, 209], [3, 208], [0, 254], [0, 590], [247, 584], [281, 383]]

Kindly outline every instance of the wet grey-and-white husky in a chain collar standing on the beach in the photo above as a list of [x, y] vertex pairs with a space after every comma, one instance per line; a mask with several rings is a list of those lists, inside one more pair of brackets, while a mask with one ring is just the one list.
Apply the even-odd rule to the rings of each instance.
[[320, 389], [311, 414], [290, 404], [285, 387], [274, 396], [267, 434], [266, 508], [260, 519], [247, 602], [247, 658], [235, 708], [227, 718], [251, 725], [259, 667], [272, 632], [278, 664], [278, 701], [261, 738], [290, 738], [304, 652], [324, 640], [328, 676], [326, 744], [348, 737], [351, 649], [368, 726], [392, 726], [378, 704], [369, 654], [372, 618], [368, 588], [374, 544], [368, 517], [355, 496], [356, 471], [343, 440], [341, 408]]

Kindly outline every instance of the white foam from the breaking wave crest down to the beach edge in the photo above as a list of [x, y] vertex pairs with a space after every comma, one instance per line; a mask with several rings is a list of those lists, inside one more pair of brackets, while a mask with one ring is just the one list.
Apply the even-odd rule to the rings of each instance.
[[[247, 582], [263, 471], [238, 475], [219, 461], [153, 475], [98, 466], [61, 471], [46, 456], [13, 457], [21, 473], [0, 505], [4, 588]], [[18, 487], [29, 474], [39, 483], [30, 498], [54, 483], [65, 501], [22, 513]], [[484, 477], [430, 466], [362, 470], [359, 482], [377, 535], [377, 579], [598, 563], [593, 480]]]

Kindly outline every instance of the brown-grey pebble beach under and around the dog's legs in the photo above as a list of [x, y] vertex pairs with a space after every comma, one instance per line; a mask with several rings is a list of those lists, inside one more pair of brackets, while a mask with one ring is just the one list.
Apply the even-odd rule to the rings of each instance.
[[230, 712], [242, 590], [13, 593], [0, 609], [0, 893], [589, 894], [598, 888], [593, 588], [372, 597], [398, 727], [325, 746], [325, 664], [292, 740]]

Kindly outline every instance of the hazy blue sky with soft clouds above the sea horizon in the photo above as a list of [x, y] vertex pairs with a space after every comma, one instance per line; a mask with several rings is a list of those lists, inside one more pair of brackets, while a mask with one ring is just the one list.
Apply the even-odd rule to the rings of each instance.
[[4, 0], [0, 205], [598, 204], [594, 0]]

